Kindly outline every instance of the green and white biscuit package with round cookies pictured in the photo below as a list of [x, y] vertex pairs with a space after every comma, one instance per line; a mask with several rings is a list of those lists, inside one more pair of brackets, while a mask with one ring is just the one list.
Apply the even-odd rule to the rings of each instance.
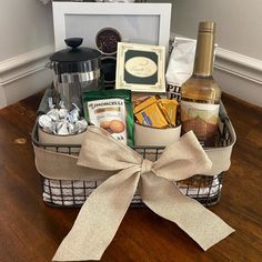
[[100, 90], [83, 93], [85, 119], [122, 143], [133, 145], [133, 109], [130, 90]]

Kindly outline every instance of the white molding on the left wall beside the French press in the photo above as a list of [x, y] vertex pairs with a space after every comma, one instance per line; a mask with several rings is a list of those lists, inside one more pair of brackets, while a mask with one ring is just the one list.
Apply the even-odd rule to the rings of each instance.
[[0, 62], [0, 108], [51, 84], [52, 72], [44, 66], [53, 51], [50, 44]]

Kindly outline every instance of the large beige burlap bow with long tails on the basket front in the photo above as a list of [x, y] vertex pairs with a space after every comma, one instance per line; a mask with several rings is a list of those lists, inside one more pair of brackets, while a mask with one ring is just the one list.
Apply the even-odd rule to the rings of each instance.
[[234, 230], [219, 216], [180, 193], [173, 181], [204, 173], [212, 165], [193, 132], [165, 148], [151, 162], [91, 127], [82, 144], [79, 165], [118, 171], [88, 198], [53, 261], [100, 260], [112, 241], [139, 184], [143, 202], [157, 214], [173, 221], [203, 250]]

